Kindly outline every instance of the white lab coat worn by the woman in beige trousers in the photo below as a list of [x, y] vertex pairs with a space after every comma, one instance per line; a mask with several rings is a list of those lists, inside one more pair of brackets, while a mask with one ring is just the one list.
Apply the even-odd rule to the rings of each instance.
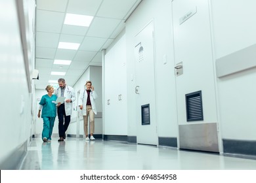
[[[98, 95], [95, 91], [90, 92], [91, 108], [93, 109], [93, 112], [95, 114], [97, 114], [96, 103], [95, 103], [95, 99], [97, 97], [98, 97]], [[83, 109], [82, 109], [83, 116], [86, 116], [86, 113], [87, 113], [86, 112], [86, 103], [87, 103], [87, 92], [85, 90], [85, 91], [83, 91], [83, 95], [81, 95], [80, 104], [79, 104], [79, 105], [83, 105]]]

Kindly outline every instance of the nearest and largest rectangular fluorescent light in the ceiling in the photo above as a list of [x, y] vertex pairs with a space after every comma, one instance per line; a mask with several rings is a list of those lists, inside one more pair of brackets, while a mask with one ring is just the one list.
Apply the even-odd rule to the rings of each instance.
[[92, 20], [93, 16], [67, 13], [64, 24], [89, 27]]

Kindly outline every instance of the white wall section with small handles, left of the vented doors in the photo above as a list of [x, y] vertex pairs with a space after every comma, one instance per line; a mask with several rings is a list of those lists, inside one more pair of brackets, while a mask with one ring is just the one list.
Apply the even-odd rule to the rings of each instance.
[[127, 135], [127, 60], [124, 34], [123, 31], [117, 37], [105, 55], [104, 135]]

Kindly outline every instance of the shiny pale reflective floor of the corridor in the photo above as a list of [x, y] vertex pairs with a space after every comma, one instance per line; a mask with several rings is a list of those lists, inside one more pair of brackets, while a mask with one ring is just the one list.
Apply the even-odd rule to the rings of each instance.
[[129, 144], [67, 138], [58, 142], [33, 139], [22, 170], [256, 170], [255, 159], [234, 158]]

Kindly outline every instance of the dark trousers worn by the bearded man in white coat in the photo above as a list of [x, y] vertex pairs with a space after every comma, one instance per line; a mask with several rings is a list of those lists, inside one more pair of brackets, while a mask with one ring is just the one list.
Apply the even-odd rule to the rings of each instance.
[[68, 125], [70, 125], [70, 116], [66, 116], [65, 105], [58, 107], [58, 136], [64, 137]]

